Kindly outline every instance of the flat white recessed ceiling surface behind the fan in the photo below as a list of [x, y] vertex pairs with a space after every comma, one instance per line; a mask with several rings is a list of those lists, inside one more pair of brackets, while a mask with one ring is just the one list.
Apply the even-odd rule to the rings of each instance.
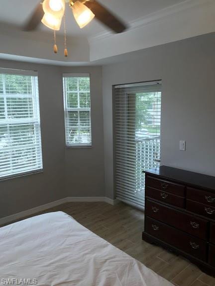
[[[40, 0], [41, 1], [41, 0]], [[178, 4], [185, 0], [99, 0], [109, 10], [114, 12], [125, 23], [132, 23], [150, 13], [156, 12], [168, 6]], [[0, 0], [0, 22], [21, 27], [30, 17], [39, 0]], [[108, 29], [97, 20], [93, 20], [88, 26], [80, 29], [72, 15], [71, 8], [66, 8], [67, 33], [70, 36], [92, 37]], [[48, 31], [40, 24], [40, 30]], [[29, 32], [28, 32], [29, 33]], [[61, 33], [63, 29], [61, 27]]]

